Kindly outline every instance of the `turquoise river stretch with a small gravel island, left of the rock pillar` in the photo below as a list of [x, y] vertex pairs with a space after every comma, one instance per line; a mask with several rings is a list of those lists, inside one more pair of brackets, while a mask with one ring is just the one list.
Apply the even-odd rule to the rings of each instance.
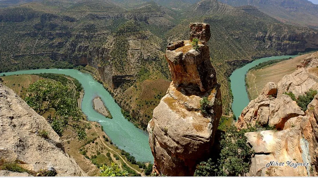
[[[0, 76], [3, 74], [9, 76], [33, 73], [65, 74], [78, 79], [85, 92], [81, 108], [83, 113], [87, 116], [87, 119], [90, 121], [98, 121], [113, 143], [119, 148], [131, 153], [136, 158], [136, 161], [153, 162], [154, 158], [149, 147], [148, 134], [136, 128], [131, 122], [124, 118], [121, 114], [121, 108], [117, 105], [112, 96], [100, 83], [93, 79], [90, 74], [82, 73], [74, 69], [38, 69], [0, 73]], [[93, 99], [96, 96], [100, 96], [112, 114], [113, 119], [108, 119], [93, 109]]]

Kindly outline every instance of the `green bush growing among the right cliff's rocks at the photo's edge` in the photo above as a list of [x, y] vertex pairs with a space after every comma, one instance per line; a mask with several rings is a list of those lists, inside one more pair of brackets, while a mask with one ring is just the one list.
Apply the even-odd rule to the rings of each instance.
[[296, 101], [301, 110], [306, 112], [307, 106], [314, 99], [315, 95], [317, 94], [317, 90], [309, 89], [304, 95], [299, 95], [297, 99], [293, 92], [285, 92], [284, 94], [287, 94], [292, 98], [292, 100]]

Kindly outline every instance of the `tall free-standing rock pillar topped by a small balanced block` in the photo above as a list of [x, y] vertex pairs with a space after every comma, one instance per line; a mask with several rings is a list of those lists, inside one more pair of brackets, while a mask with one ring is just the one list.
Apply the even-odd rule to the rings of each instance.
[[[190, 27], [196, 38], [209, 40], [210, 31], [205, 31], [209, 24]], [[167, 176], [193, 176], [196, 164], [209, 155], [214, 142], [222, 114], [220, 85], [205, 41], [199, 42], [197, 50], [190, 40], [170, 43], [166, 59], [172, 82], [147, 128], [154, 170]], [[204, 97], [210, 106], [206, 114], [200, 111]]]

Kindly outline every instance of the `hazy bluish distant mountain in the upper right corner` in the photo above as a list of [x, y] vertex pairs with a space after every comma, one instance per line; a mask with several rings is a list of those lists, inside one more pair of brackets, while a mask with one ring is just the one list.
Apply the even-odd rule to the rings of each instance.
[[318, 4], [308, 0], [220, 0], [231, 6], [252, 5], [281, 22], [318, 28]]

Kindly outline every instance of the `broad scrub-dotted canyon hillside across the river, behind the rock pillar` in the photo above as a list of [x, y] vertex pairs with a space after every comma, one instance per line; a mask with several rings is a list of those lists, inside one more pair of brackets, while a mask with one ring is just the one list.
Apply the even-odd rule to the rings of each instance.
[[166, 44], [187, 39], [190, 22], [211, 24], [208, 45], [224, 114], [231, 112], [228, 77], [238, 66], [257, 57], [318, 48], [316, 30], [216, 0], [202, 0], [181, 13], [154, 2], [125, 8], [99, 0], [40, 1], [0, 9], [0, 22], [0, 71], [89, 65], [85, 69], [104, 82], [131, 114], [126, 117], [143, 129], [171, 81]]

